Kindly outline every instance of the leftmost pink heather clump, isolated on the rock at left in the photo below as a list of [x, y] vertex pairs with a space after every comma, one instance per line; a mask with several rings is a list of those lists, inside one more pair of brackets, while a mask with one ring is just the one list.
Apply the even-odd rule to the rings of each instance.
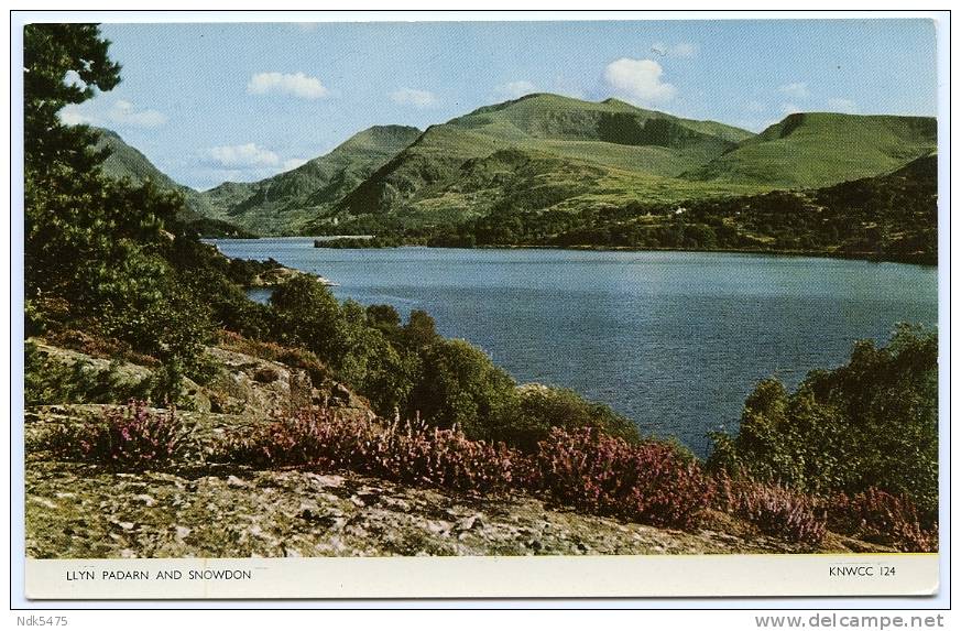
[[157, 412], [143, 401], [103, 412], [101, 418], [65, 428], [48, 440], [61, 456], [121, 470], [164, 467], [183, 455], [189, 432], [176, 412]]

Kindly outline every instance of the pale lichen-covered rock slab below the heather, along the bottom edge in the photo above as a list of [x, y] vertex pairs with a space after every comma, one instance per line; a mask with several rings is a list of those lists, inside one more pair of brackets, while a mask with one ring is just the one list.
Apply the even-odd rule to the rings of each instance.
[[[353, 474], [114, 475], [42, 460], [26, 472], [26, 553], [36, 558], [804, 552], [727, 515], [708, 518], [681, 532], [527, 496], [457, 496]], [[823, 548], [856, 543], [830, 537]]]

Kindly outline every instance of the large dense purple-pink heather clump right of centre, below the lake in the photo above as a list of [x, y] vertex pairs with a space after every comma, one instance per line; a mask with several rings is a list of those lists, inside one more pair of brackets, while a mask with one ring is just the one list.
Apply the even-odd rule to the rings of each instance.
[[632, 445], [592, 427], [552, 429], [534, 456], [534, 474], [558, 503], [653, 525], [689, 527], [711, 503], [700, 467], [670, 445]]

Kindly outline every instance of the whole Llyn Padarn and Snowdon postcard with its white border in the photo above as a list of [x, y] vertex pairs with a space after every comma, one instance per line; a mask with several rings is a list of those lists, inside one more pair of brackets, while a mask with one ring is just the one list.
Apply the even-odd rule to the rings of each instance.
[[26, 598], [937, 594], [936, 20], [110, 17], [14, 50]]

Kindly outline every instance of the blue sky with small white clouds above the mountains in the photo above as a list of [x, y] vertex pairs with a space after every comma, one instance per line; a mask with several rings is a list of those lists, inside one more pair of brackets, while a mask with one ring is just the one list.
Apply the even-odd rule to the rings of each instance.
[[935, 116], [924, 20], [105, 24], [122, 83], [64, 120], [177, 182], [253, 181], [372, 124], [531, 91], [614, 96], [760, 131], [793, 111]]

